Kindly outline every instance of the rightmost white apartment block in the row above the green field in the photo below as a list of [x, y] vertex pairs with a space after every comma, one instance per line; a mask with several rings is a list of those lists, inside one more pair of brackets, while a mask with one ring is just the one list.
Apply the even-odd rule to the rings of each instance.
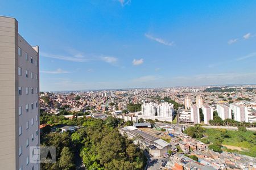
[[230, 108], [234, 113], [234, 120], [238, 122], [248, 121], [248, 108], [244, 105], [230, 104]]

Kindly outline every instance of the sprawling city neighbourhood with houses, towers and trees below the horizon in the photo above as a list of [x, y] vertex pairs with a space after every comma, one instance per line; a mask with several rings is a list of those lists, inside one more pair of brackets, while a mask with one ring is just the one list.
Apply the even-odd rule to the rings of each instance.
[[57, 148], [57, 162], [41, 167], [255, 169], [255, 92], [249, 85], [40, 92], [41, 144]]

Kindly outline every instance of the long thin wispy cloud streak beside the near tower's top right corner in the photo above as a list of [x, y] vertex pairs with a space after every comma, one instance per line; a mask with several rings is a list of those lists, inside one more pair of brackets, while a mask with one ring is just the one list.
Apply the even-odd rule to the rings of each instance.
[[73, 56], [63, 56], [63, 55], [48, 54], [48, 53], [41, 52], [40, 56], [47, 57], [47, 58], [61, 59], [61, 60], [65, 60], [65, 61], [73, 61], [73, 62], [89, 61], [89, 59], [85, 58], [81, 54], [75, 54]]

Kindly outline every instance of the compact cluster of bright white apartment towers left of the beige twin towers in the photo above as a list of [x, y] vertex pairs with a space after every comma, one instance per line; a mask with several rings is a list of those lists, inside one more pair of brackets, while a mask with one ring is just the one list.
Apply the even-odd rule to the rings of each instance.
[[141, 107], [141, 115], [139, 118], [144, 119], [158, 119], [161, 121], [172, 121], [172, 116], [174, 114], [174, 105], [168, 104], [167, 102], [156, 104], [156, 103], [146, 103]]

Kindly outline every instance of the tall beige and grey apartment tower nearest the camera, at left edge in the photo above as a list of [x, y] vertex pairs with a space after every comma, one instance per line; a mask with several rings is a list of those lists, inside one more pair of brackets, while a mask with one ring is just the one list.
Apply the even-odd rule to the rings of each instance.
[[39, 169], [30, 163], [39, 138], [39, 47], [0, 16], [0, 169]]

